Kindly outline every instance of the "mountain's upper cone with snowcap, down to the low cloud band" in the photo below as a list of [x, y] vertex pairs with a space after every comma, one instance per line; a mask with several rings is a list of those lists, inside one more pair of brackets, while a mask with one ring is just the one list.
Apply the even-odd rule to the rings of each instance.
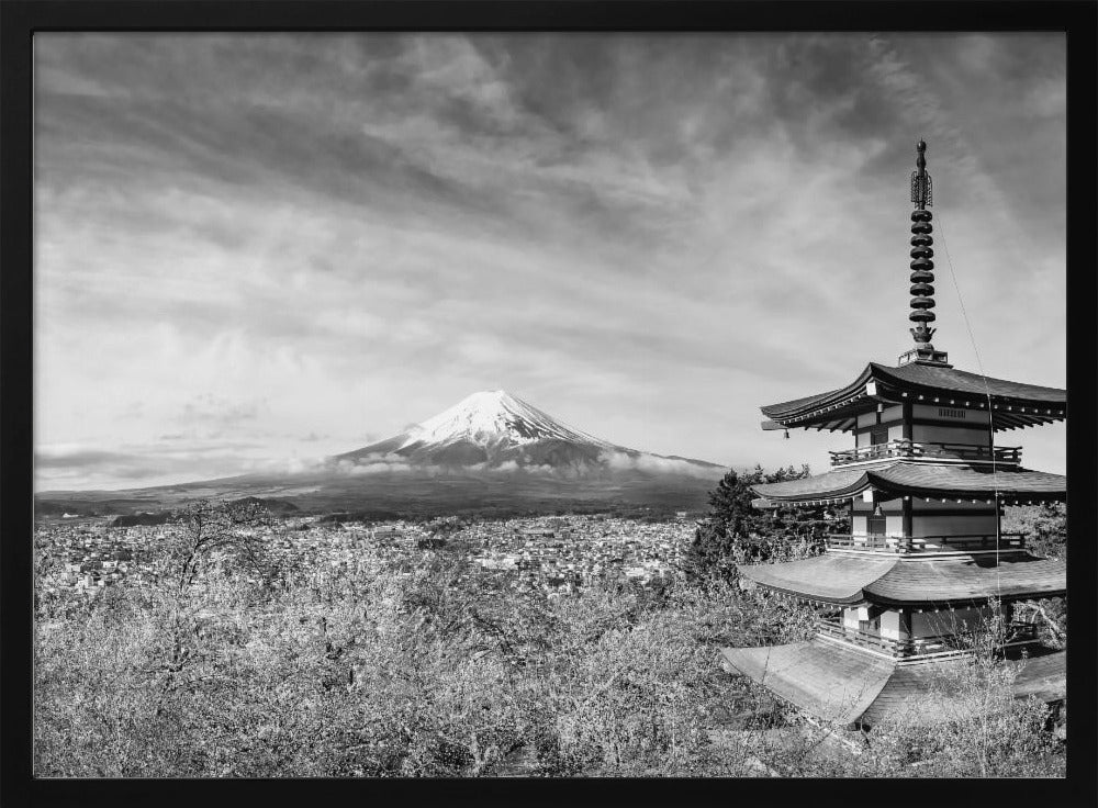
[[[388, 440], [334, 458], [346, 465], [410, 467], [568, 474], [623, 471], [713, 474], [722, 467], [650, 454], [587, 435], [503, 390], [482, 391]], [[707, 473], [708, 472], [708, 473]]]

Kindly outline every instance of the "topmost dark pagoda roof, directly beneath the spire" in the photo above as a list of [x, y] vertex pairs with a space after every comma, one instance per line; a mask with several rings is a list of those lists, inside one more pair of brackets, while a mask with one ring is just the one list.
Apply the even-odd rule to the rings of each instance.
[[[869, 382], [873, 385], [866, 390]], [[1067, 417], [1067, 393], [1060, 388], [985, 378], [979, 373], [921, 362], [895, 368], [870, 362], [844, 388], [770, 404], [761, 409], [781, 427], [848, 431], [854, 427], [858, 415], [870, 412], [878, 402], [910, 401], [987, 408], [988, 396], [995, 429], [1016, 429]]]

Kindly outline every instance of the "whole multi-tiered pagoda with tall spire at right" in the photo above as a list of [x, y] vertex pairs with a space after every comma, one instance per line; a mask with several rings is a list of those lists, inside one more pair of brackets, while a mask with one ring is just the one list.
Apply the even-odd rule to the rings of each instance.
[[[1015, 695], [1064, 697], [1064, 652], [1043, 648], [1013, 604], [1066, 595], [1063, 562], [1038, 558], [1000, 530], [1002, 508], [1066, 500], [1066, 480], [1021, 465], [995, 435], [1066, 418], [1065, 391], [957, 370], [934, 328], [932, 186], [927, 145], [911, 175], [911, 312], [915, 347], [896, 367], [870, 362], [845, 386], [762, 407], [763, 429], [851, 433], [814, 476], [760, 484], [757, 507], [833, 505], [850, 532], [826, 551], [739, 568], [760, 586], [820, 608], [807, 642], [722, 649], [724, 665], [803, 712], [872, 727], [904, 712], [945, 715], [934, 677], [971, 654], [965, 638], [998, 616], [1004, 664], [1020, 664]], [[786, 431], [788, 437], [788, 431]], [[1011, 661], [1023, 658], [1024, 661]]]

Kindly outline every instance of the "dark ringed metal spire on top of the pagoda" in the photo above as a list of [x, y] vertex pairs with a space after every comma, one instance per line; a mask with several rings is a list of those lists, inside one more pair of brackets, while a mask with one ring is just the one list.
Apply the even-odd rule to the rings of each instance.
[[929, 325], [935, 319], [931, 311], [934, 307], [934, 239], [930, 235], [934, 227], [930, 224], [933, 214], [927, 209], [933, 204], [934, 198], [933, 183], [927, 173], [926, 141], [919, 141], [916, 149], [919, 156], [915, 161], [916, 170], [911, 172], [911, 202], [915, 210], [911, 211], [911, 313], [908, 315], [908, 319], [916, 324], [910, 329], [915, 349], [901, 356], [899, 362], [944, 364], [948, 361], [946, 355], [934, 350], [930, 343], [937, 330]]

